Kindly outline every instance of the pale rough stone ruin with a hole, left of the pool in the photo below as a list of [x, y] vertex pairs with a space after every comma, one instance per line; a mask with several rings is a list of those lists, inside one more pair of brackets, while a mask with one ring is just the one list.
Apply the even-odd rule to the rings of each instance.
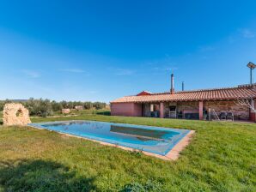
[[5, 104], [3, 107], [3, 125], [27, 125], [31, 123], [28, 110], [21, 104]]

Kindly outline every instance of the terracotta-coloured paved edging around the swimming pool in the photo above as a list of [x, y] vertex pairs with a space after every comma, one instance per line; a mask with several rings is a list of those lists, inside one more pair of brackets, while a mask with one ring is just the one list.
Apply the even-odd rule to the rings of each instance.
[[[82, 120], [82, 121], [84, 121], [84, 120]], [[55, 122], [55, 123], [57, 123], [57, 122]], [[61, 121], [61, 122], [70, 122], [70, 121]], [[97, 122], [97, 121], [95, 121], [95, 122]], [[48, 123], [48, 122], [46, 122], [46, 123]], [[111, 122], [106, 122], [106, 123], [111, 123]], [[27, 124], [27, 126], [32, 127], [34, 129], [45, 129], [45, 128], [42, 128], [40, 126], [34, 126], [33, 124], [34, 123]], [[127, 124], [127, 123], [122, 123], [122, 124]], [[140, 126], [143, 126], [143, 125], [140, 125]], [[145, 126], [154, 127], [154, 126], [148, 126], [148, 125], [145, 125]], [[154, 127], [154, 128], [157, 128], [157, 127]], [[159, 128], [168, 129], [166, 127], [159, 127]], [[51, 129], [46, 129], [46, 130], [56, 132], [60, 135], [66, 135], [66, 136], [76, 137], [76, 138], [79, 138], [79, 139], [84, 139], [84, 140], [87, 140], [87, 141], [98, 142], [98, 143], [100, 143], [101, 145], [104, 145], [104, 146], [117, 147], [117, 148], [120, 148], [120, 149], [123, 149], [123, 150], [126, 150], [126, 151], [143, 153], [145, 155], [155, 157], [155, 158], [158, 158], [158, 159], [163, 159], [163, 160], [176, 160], [176, 159], [178, 159], [179, 156], [180, 156], [180, 152], [190, 143], [190, 141], [192, 139], [192, 135], [195, 133], [195, 130], [190, 130], [184, 137], [182, 137], [180, 139], [180, 141], [178, 141], [174, 145], [174, 147], [172, 147], [172, 149], [167, 154], [162, 155], [162, 154], [150, 153], [150, 152], [138, 150], [138, 149], [131, 148], [131, 147], [124, 147], [124, 146], [120, 146], [118, 144], [113, 144], [113, 143], [109, 143], [109, 142], [105, 142], [105, 141], [97, 141], [97, 140], [94, 140], [94, 139], [90, 139], [90, 138], [82, 137], [82, 136], [78, 136], [78, 135], [72, 135], [72, 134], [68, 134], [68, 133], [58, 132], [58, 131], [51, 130]]]

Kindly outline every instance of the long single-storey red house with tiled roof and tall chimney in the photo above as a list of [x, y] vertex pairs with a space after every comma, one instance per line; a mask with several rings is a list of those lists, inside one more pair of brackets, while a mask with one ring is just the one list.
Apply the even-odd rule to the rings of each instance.
[[256, 85], [174, 91], [174, 75], [170, 92], [149, 93], [143, 91], [111, 102], [113, 116], [161, 117], [210, 120], [225, 118], [255, 121], [255, 112], [239, 101], [254, 105]]

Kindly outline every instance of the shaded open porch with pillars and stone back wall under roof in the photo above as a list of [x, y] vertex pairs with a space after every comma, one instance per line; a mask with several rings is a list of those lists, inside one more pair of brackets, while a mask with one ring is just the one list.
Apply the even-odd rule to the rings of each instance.
[[248, 121], [251, 119], [250, 115], [250, 110], [247, 107], [235, 105], [233, 100], [198, 100], [142, 104], [143, 117]]

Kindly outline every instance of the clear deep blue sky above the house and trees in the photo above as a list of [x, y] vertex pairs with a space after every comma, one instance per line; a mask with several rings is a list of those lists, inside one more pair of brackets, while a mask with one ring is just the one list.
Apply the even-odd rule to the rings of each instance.
[[175, 90], [182, 81], [186, 90], [248, 83], [255, 8], [255, 0], [3, 0], [0, 99], [108, 102], [168, 91], [171, 69]]

